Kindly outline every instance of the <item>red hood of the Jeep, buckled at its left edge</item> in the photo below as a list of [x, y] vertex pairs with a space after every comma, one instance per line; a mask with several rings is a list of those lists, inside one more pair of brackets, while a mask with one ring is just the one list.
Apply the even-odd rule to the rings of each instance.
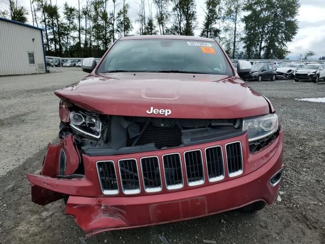
[[158, 109], [170, 110], [169, 118], [241, 118], [270, 112], [265, 98], [244, 81], [219, 75], [90, 75], [55, 94], [84, 109], [110, 115], [166, 117], [163, 112], [150, 113]]

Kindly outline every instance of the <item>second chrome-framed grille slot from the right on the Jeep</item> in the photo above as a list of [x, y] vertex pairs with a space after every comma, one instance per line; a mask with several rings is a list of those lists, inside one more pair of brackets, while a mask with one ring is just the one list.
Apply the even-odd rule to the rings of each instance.
[[208, 179], [210, 182], [222, 180], [224, 178], [224, 164], [222, 147], [213, 146], [205, 149]]

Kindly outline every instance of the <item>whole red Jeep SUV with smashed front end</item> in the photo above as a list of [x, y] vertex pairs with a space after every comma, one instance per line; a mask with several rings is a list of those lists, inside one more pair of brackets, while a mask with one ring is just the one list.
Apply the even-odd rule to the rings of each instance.
[[[250, 70], [238, 61], [238, 74]], [[214, 39], [122, 37], [89, 76], [55, 95], [60, 140], [41, 173], [27, 174], [31, 199], [63, 198], [88, 236], [257, 211], [277, 196], [278, 116]]]

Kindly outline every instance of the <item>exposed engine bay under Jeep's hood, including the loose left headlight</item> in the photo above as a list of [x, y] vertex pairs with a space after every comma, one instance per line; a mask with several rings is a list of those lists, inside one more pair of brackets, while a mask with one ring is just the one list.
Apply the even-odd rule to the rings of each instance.
[[241, 135], [241, 119], [177, 119], [100, 115], [70, 108], [59, 137], [75, 134], [81, 153], [108, 156], [217, 141]]

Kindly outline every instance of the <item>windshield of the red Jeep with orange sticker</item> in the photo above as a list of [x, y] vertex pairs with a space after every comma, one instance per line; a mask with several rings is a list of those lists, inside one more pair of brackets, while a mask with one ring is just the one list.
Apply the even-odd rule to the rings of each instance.
[[97, 73], [163, 72], [233, 76], [216, 42], [171, 39], [116, 42]]

